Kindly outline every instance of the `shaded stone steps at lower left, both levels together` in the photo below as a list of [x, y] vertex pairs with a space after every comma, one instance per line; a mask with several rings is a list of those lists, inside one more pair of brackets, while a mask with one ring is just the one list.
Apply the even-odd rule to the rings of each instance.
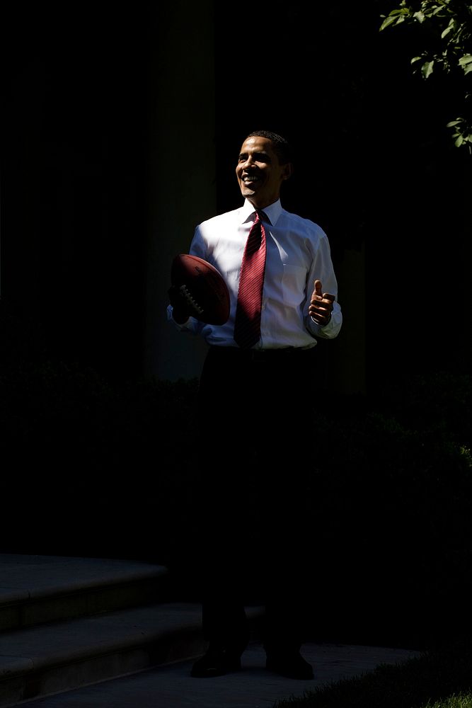
[[0, 554], [0, 708], [200, 656], [200, 604], [171, 586], [146, 562]]

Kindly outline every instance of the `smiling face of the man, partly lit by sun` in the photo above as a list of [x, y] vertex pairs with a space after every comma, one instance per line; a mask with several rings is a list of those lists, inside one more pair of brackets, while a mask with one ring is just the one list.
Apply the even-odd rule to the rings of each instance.
[[277, 201], [280, 185], [289, 178], [292, 165], [281, 165], [272, 140], [266, 137], [248, 137], [241, 147], [236, 165], [241, 194], [258, 209]]

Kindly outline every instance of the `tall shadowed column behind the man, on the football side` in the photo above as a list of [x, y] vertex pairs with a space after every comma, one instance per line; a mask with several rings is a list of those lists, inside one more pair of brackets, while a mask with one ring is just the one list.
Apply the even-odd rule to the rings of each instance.
[[[149, 215], [144, 375], [190, 379], [206, 351], [166, 320], [173, 256], [216, 213], [214, 4], [156, 3], [149, 62]], [[152, 34], [152, 33], [151, 33]]]

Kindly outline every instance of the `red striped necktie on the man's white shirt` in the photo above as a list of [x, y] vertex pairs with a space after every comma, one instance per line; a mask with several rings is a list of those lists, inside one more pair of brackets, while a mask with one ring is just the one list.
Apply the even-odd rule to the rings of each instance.
[[255, 212], [255, 222], [246, 241], [239, 275], [234, 341], [241, 349], [251, 348], [260, 339], [265, 273], [265, 229], [260, 213]]

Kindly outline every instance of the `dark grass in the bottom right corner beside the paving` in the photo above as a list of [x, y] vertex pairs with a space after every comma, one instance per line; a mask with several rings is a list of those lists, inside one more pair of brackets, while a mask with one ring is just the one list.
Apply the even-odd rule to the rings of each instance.
[[472, 708], [472, 637], [290, 697], [274, 708]]

